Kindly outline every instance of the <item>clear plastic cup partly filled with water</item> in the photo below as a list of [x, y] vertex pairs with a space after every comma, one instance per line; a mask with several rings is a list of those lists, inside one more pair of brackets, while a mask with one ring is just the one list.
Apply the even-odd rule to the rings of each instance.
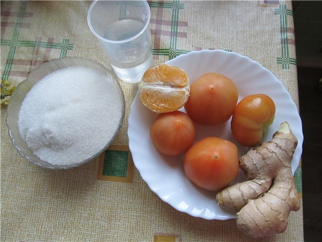
[[150, 8], [145, 0], [94, 1], [88, 24], [98, 37], [115, 74], [136, 83], [152, 66]]

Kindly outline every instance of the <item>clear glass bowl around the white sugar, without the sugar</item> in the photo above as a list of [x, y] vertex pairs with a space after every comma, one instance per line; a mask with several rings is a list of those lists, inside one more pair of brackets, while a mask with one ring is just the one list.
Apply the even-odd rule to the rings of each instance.
[[[118, 92], [122, 110], [121, 110], [121, 116], [118, 120], [117, 129], [114, 131], [112, 138], [108, 141], [108, 143], [104, 146], [103, 149], [101, 149], [95, 155], [92, 155], [91, 157], [85, 160], [78, 160], [72, 164], [57, 165], [57, 164], [51, 164], [47, 161], [41, 160], [28, 147], [27, 143], [22, 139], [19, 132], [18, 116], [20, 112], [20, 107], [22, 105], [22, 102], [26, 94], [39, 80], [41, 80], [43, 77], [45, 77], [46, 75], [54, 71], [65, 69], [68, 67], [85, 67], [85, 68], [94, 69], [99, 73], [107, 76], [109, 79], [111, 79]], [[37, 68], [35, 68], [33, 71], [30, 72], [27, 79], [22, 81], [17, 86], [16, 91], [12, 94], [11, 101], [7, 109], [7, 115], [8, 115], [7, 125], [9, 128], [9, 136], [12, 140], [14, 147], [19, 151], [19, 153], [24, 158], [26, 158], [27, 160], [29, 160], [35, 165], [48, 168], [48, 169], [69, 169], [69, 168], [83, 165], [91, 161], [93, 158], [99, 156], [103, 151], [105, 151], [108, 148], [108, 146], [113, 142], [113, 140], [115, 139], [116, 135], [118, 134], [123, 124], [123, 118], [125, 115], [125, 99], [124, 99], [124, 93], [120, 86], [120, 83], [115, 78], [115, 76], [111, 72], [109, 72], [104, 66], [102, 66], [97, 62], [92, 61], [91, 59], [86, 59], [81, 57], [64, 57], [60, 59], [52, 59], [47, 63], [39, 65]]]

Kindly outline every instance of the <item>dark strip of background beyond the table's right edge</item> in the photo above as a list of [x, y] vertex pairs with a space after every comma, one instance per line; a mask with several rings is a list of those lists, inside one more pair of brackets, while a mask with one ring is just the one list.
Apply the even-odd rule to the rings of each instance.
[[303, 127], [304, 241], [322, 241], [322, 1], [292, 1]]

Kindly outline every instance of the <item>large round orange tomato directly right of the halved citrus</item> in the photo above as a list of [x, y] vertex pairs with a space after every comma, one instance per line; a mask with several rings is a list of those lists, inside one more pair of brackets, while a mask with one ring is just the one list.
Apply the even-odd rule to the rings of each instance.
[[237, 101], [238, 90], [228, 77], [206, 73], [190, 84], [185, 109], [196, 123], [218, 125], [230, 118]]

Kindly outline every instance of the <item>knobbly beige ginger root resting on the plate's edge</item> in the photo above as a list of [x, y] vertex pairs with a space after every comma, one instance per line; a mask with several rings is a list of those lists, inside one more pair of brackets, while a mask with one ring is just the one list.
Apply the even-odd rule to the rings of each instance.
[[296, 137], [283, 122], [271, 141], [239, 158], [248, 180], [217, 194], [218, 205], [237, 212], [237, 227], [247, 235], [268, 237], [282, 233], [289, 213], [299, 210], [290, 166], [296, 146]]

